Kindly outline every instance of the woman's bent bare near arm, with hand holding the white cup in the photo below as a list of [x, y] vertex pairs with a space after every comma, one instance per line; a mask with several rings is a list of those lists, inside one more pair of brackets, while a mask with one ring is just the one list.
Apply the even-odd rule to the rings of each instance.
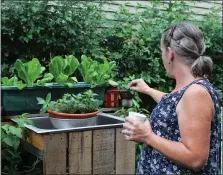
[[207, 90], [200, 85], [192, 85], [177, 106], [181, 142], [157, 136], [148, 123], [136, 124], [134, 121], [130, 121], [133, 125], [127, 126], [131, 128], [129, 140], [145, 142], [173, 162], [197, 171], [208, 159], [213, 111]]

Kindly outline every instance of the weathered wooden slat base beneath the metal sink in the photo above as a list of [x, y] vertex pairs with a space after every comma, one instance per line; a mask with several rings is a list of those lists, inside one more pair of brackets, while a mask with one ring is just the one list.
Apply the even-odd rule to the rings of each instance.
[[43, 174], [135, 174], [135, 142], [122, 129], [31, 131], [28, 142], [42, 152]]

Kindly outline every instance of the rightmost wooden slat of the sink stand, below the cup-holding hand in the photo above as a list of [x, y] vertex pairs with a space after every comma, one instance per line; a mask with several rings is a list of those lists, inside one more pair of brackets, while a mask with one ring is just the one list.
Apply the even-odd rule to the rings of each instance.
[[115, 174], [135, 174], [135, 142], [125, 140], [122, 129], [116, 129]]

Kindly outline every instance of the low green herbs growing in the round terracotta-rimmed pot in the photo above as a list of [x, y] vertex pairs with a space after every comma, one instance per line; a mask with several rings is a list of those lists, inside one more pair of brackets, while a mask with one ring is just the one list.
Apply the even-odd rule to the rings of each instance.
[[46, 99], [37, 97], [38, 104], [42, 104], [41, 112], [46, 112], [48, 109], [56, 112], [69, 114], [83, 114], [95, 112], [99, 110], [102, 101], [95, 99], [97, 94], [91, 90], [87, 90], [77, 95], [64, 94], [61, 99], [51, 101], [51, 94], [48, 94]]

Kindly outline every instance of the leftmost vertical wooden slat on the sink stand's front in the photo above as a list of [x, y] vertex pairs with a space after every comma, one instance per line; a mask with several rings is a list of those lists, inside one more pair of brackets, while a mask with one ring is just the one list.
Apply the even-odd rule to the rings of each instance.
[[67, 134], [43, 135], [43, 174], [66, 174]]

